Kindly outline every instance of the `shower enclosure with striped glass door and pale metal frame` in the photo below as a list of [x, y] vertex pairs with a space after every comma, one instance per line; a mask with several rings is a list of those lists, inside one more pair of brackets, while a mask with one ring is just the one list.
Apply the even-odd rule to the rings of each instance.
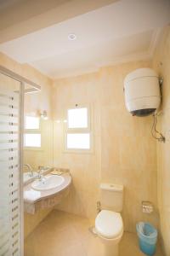
[[23, 256], [24, 95], [41, 87], [0, 66], [0, 256]]

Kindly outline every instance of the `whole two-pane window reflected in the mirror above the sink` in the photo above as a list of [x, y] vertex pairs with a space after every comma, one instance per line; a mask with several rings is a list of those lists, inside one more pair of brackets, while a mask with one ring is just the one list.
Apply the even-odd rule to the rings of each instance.
[[42, 146], [40, 119], [38, 117], [26, 116], [24, 146], [26, 148], [41, 148]]

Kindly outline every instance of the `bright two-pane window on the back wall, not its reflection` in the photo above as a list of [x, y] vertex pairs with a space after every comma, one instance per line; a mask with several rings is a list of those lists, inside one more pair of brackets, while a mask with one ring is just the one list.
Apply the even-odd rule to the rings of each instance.
[[90, 151], [92, 148], [89, 108], [67, 110], [66, 150]]

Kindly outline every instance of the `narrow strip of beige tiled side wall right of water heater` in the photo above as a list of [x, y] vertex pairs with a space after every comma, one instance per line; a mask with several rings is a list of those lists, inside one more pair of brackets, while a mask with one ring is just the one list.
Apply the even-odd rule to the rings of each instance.
[[159, 125], [166, 137], [166, 143], [157, 143], [157, 181], [162, 244], [168, 256], [170, 255], [170, 26], [167, 26], [161, 34], [153, 67], [164, 79]]

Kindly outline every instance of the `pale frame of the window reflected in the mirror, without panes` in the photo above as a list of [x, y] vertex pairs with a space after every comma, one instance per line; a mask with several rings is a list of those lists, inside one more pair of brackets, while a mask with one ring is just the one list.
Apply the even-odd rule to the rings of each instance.
[[[39, 119], [39, 128], [38, 129], [26, 129], [26, 117], [35, 117]], [[24, 122], [24, 149], [25, 150], [36, 150], [36, 151], [42, 151], [42, 122], [41, 118], [37, 116], [31, 116], [29, 114], [26, 114], [25, 122]], [[25, 135], [26, 134], [40, 134], [41, 135], [41, 147], [29, 147], [25, 145]]]

